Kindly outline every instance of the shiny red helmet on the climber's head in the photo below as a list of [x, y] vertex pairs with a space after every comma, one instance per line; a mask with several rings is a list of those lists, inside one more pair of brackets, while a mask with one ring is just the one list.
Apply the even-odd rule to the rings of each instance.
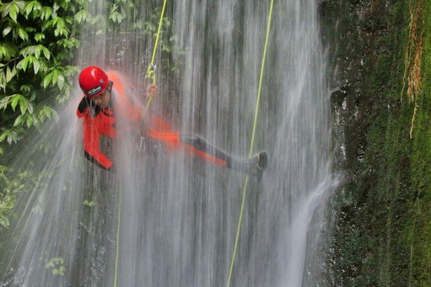
[[86, 67], [79, 74], [79, 86], [86, 97], [97, 97], [108, 86], [108, 75], [96, 66]]

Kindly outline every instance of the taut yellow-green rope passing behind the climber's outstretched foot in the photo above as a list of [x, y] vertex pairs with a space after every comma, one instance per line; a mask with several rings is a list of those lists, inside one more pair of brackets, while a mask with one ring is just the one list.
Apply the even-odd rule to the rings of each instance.
[[[263, 47], [261, 73], [260, 73], [260, 76], [259, 76], [259, 87], [257, 89], [256, 110], [254, 110], [254, 122], [253, 122], [253, 131], [252, 131], [252, 140], [251, 140], [251, 144], [250, 144], [250, 152], [248, 154], [249, 157], [252, 156], [253, 145], [254, 145], [254, 135], [256, 134], [257, 115], [259, 113], [259, 102], [260, 102], [260, 99], [261, 99], [261, 89], [262, 89], [262, 82], [263, 82], [263, 72], [265, 70], [266, 50], [267, 50], [267, 47], [268, 47], [268, 39], [269, 39], [269, 33], [270, 33], [271, 19], [273, 17], [273, 6], [274, 6], [274, 0], [271, 0], [270, 10], [269, 10], [269, 15], [268, 15], [268, 24], [266, 26], [265, 46]], [[234, 263], [235, 263], [235, 258], [236, 258], [236, 249], [238, 248], [239, 234], [240, 234], [240, 231], [241, 231], [241, 224], [242, 224], [242, 220], [243, 220], [245, 195], [247, 194], [247, 185], [248, 185], [248, 176], [245, 177], [245, 182], [244, 182], [243, 199], [242, 199], [242, 202], [241, 202], [241, 208], [240, 208], [240, 212], [239, 212], [239, 216], [238, 216], [238, 227], [236, 227], [236, 237], [235, 237], [234, 252], [232, 253], [232, 259], [231, 259], [231, 263], [230, 263], [229, 277], [227, 278], [227, 284], [226, 284], [227, 287], [229, 287], [230, 284], [231, 284], [232, 271], [234, 270]]]

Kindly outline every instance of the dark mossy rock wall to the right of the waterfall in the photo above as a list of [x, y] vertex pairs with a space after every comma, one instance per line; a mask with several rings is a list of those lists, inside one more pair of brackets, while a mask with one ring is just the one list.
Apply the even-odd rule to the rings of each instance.
[[[343, 174], [328, 216], [322, 284], [431, 286], [431, 1], [321, 0], [320, 8], [334, 88], [334, 167]], [[405, 55], [420, 48], [421, 91], [409, 101]]]

